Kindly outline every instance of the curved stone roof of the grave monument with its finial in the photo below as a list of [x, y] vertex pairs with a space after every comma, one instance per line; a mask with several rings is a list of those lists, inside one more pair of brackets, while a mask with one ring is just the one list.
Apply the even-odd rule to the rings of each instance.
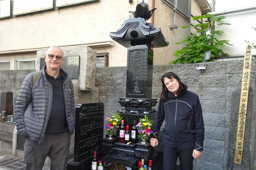
[[110, 32], [110, 37], [129, 48], [135, 45], [147, 45], [148, 47], [166, 47], [168, 42], [165, 40], [160, 28], [155, 28], [153, 24], [147, 23], [156, 8], [149, 10], [147, 3], [144, 0], [136, 6], [136, 11], [130, 13], [135, 18], [127, 19], [122, 24], [122, 27], [117, 29], [117, 32]]

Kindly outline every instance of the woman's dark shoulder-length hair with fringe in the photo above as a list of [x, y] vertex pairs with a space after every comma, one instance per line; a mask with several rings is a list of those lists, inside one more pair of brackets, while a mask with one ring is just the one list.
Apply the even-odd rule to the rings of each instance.
[[173, 73], [173, 72], [167, 72], [167, 73], [165, 73], [165, 74], [162, 76], [162, 78], [161, 78], [161, 82], [162, 82], [162, 92], [161, 92], [161, 95], [160, 95], [160, 99], [161, 99], [162, 101], [165, 101], [166, 95], [168, 94], [168, 93], [166, 93], [166, 91], [168, 91], [168, 89], [166, 88], [165, 83], [163, 82], [163, 79], [165, 79], [165, 77], [168, 78], [168, 79], [176, 79], [176, 80], [178, 81], [178, 83], [179, 83], [179, 89], [178, 89], [178, 91], [177, 91], [177, 94], [178, 94], [178, 95], [181, 94], [183, 91], [187, 91], [188, 86], [185, 85], [183, 82], [181, 82], [181, 79], [179, 79], [179, 76], [178, 76], [178, 75], [176, 75], [176, 74]]

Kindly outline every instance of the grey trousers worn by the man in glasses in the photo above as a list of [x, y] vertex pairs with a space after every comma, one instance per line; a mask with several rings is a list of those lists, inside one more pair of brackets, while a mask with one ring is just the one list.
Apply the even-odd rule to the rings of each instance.
[[51, 170], [65, 170], [69, 157], [70, 133], [46, 133], [44, 141], [38, 142], [26, 138], [24, 161], [26, 170], [42, 170], [47, 155], [51, 159]]

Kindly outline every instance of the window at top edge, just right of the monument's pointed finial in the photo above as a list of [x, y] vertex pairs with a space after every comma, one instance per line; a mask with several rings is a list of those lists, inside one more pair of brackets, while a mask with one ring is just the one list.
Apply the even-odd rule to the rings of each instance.
[[190, 18], [190, 0], [163, 0], [170, 3], [179, 12]]

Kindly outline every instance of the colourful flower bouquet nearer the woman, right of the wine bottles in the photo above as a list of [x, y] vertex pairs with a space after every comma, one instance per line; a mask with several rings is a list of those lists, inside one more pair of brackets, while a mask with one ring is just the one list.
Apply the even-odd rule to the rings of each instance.
[[147, 140], [148, 136], [153, 133], [153, 131], [150, 130], [153, 122], [154, 120], [150, 120], [147, 115], [145, 115], [144, 118], [140, 118], [140, 122], [136, 125], [136, 127], [138, 129], [140, 139], [142, 140], [141, 143], [145, 144], [145, 140]]

